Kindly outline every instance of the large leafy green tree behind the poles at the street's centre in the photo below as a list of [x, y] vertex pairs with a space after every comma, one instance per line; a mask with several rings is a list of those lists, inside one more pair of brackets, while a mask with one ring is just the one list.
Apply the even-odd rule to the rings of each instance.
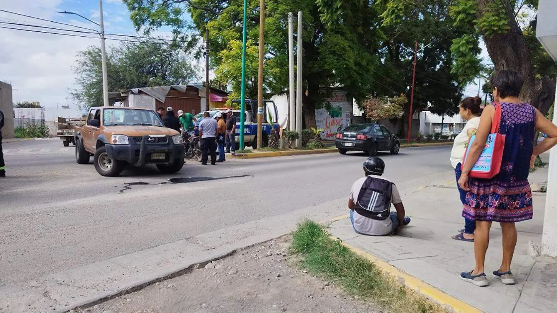
[[[242, 1], [231, 0], [124, 0], [138, 30], [161, 26], [173, 28], [176, 36], [209, 29], [211, 66], [219, 80], [231, 82], [233, 95], [240, 94], [238, 47], [242, 40]], [[255, 96], [259, 1], [248, 1], [248, 53], [246, 82], [248, 96]], [[304, 14], [303, 96], [305, 127], [315, 126], [315, 110], [326, 105], [333, 87], [342, 85], [350, 96], [363, 100], [372, 91], [372, 70], [379, 58], [378, 14], [368, 2], [356, 0], [280, 0], [267, 3], [265, 21], [265, 90], [283, 92], [288, 86], [288, 12]], [[333, 14], [331, 12], [338, 12]], [[183, 17], [189, 13], [193, 25]], [[191, 35], [191, 33], [190, 33]], [[255, 57], [255, 58], [254, 58]]]

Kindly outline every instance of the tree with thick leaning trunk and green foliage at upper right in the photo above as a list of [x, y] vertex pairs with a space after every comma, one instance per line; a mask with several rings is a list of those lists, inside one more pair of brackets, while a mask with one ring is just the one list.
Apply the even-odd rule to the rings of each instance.
[[[547, 113], [555, 96], [555, 82], [550, 75], [557, 73], [540, 43], [535, 40], [536, 18], [521, 28], [525, 8], [535, 12], [536, 0], [444, 0], [455, 27], [466, 30], [451, 34], [451, 52], [455, 55], [453, 73], [461, 85], [466, 85], [481, 74], [483, 66], [478, 58], [480, 38], [494, 62], [494, 69], [514, 69], [524, 77], [521, 99], [530, 102], [541, 113]], [[393, 0], [384, 14], [384, 23], [392, 25], [413, 12], [413, 1]], [[455, 36], [456, 35], [456, 36]]]

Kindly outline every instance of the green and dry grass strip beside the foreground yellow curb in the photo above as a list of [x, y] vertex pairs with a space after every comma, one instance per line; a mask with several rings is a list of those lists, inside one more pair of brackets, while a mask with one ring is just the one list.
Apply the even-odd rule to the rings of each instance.
[[292, 252], [301, 256], [300, 266], [335, 282], [348, 294], [371, 299], [391, 313], [448, 312], [427, 297], [401, 285], [395, 277], [356, 255], [312, 221], [299, 224], [292, 234]]

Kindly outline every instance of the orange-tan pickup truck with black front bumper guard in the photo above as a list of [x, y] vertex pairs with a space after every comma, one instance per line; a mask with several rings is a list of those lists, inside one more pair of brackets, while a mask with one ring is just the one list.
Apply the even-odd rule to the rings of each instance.
[[153, 110], [135, 107], [91, 107], [85, 125], [75, 129], [75, 158], [88, 164], [93, 156], [102, 176], [118, 176], [126, 164], [156, 164], [172, 174], [184, 166], [182, 136]]

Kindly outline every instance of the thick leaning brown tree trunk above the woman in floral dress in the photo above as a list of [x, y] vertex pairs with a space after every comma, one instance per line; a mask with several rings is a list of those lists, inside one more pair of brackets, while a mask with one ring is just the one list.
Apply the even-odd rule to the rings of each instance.
[[[477, 0], [478, 17], [486, 13], [486, 4], [494, 0]], [[495, 70], [514, 69], [524, 78], [520, 99], [534, 105], [542, 114], [546, 114], [555, 98], [555, 82], [549, 77], [536, 79], [532, 66], [530, 51], [524, 35], [516, 22], [514, 8], [509, 1], [501, 1], [509, 17], [509, 31], [488, 37], [483, 35], [487, 52], [494, 62]]]

